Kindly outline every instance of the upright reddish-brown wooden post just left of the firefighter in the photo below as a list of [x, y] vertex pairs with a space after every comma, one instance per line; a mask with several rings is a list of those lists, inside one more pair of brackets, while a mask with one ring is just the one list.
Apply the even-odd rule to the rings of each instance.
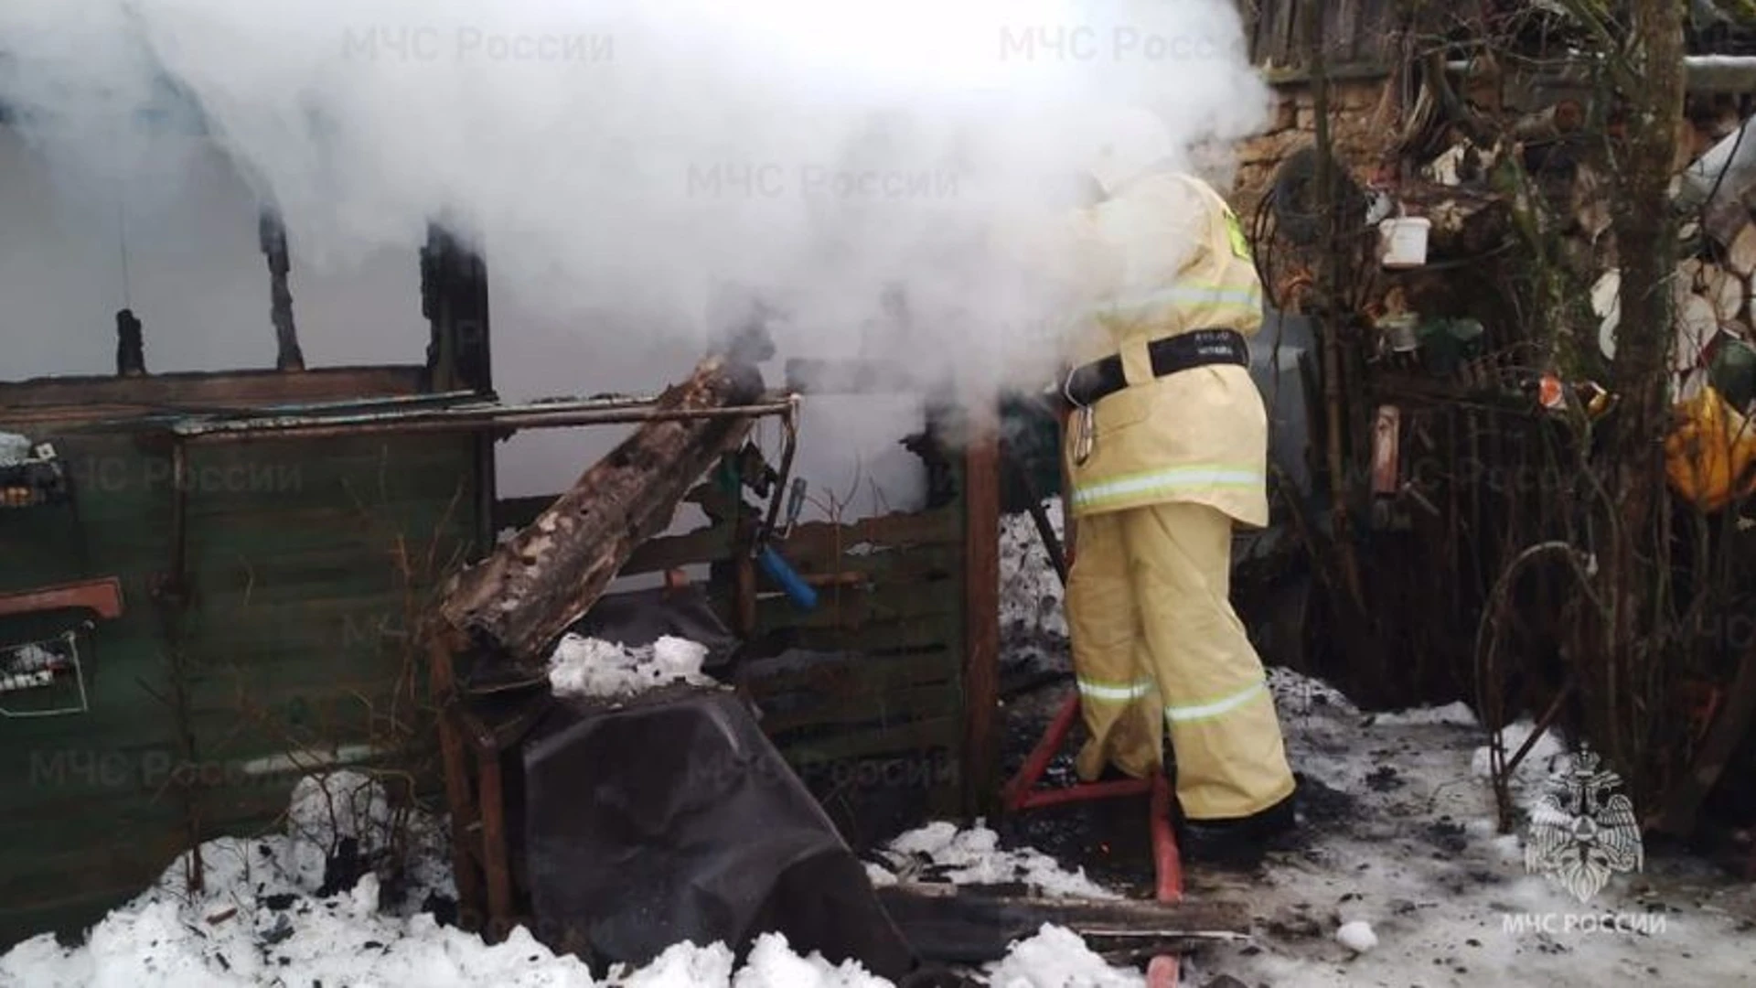
[[999, 427], [973, 403], [964, 448], [964, 810], [983, 816], [999, 772]]

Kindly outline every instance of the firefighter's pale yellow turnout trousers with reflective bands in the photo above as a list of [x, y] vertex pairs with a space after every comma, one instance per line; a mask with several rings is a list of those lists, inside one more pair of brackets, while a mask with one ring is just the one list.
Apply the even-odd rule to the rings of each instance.
[[1231, 533], [1229, 515], [1192, 501], [1087, 515], [1068, 575], [1090, 731], [1076, 772], [1159, 772], [1168, 724], [1189, 819], [1250, 816], [1294, 788], [1263, 661], [1231, 608]]

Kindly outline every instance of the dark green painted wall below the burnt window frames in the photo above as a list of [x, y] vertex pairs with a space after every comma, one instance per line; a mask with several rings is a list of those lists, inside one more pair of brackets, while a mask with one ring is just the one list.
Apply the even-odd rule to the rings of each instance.
[[[191, 817], [204, 839], [272, 825], [300, 749], [418, 731], [409, 615], [483, 531], [469, 438], [191, 445], [172, 638], [153, 601], [174, 559], [170, 450], [16, 431], [54, 440], [77, 512], [0, 512], [0, 591], [116, 575], [125, 615], [93, 633], [88, 714], [0, 719], [0, 946], [139, 893]], [[7, 619], [0, 642], [65, 624]]]

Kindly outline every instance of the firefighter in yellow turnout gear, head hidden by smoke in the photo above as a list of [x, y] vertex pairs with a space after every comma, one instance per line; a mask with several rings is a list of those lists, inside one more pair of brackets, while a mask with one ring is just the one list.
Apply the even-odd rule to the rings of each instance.
[[1231, 207], [1171, 167], [1157, 118], [1122, 111], [1094, 146], [1062, 389], [1068, 621], [1090, 735], [1076, 772], [1161, 772], [1168, 730], [1184, 851], [1254, 861], [1292, 826], [1296, 789], [1229, 601], [1233, 527], [1268, 524], [1247, 345], [1263, 290]]

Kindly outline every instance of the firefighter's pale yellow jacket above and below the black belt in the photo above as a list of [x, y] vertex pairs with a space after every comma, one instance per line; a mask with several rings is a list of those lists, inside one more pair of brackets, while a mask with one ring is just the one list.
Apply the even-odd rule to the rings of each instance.
[[1245, 367], [1152, 376], [1147, 345], [1194, 329], [1263, 325], [1263, 287], [1226, 200], [1199, 179], [1161, 174], [1082, 216], [1085, 297], [1071, 360], [1120, 353], [1129, 387], [1092, 406], [1096, 447], [1073, 462], [1075, 517], [1169, 501], [1210, 505], [1245, 526], [1268, 524], [1268, 413]]

